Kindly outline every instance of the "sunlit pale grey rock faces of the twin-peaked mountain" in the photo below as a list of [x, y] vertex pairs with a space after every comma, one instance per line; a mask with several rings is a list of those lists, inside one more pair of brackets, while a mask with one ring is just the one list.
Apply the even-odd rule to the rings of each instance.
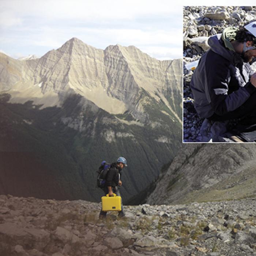
[[[60, 98], [73, 91], [109, 113], [124, 113], [134, 108], [140, 91], [144, 90], [158, 102], [163, 99], [168, 108], [172, 109], [175, 106], [170, 106], [165, 99], [166, 95], [163, 95], [165, 88], [172, 90], [171, 83], [168, 85], [165, 81], [172, 79], [174, 75], [172, 83], [176, 83], [176, 75], [180, 76], [178, 73], [181, 72], [176, 69], [177, 74], [166, 76], [170, 62], [151, 58], [135, 46], [125, 47], [117, 44], [101, 50], [73, 37], [59, 49], [49, 51], [40, 59], [19, 61], [18, 69], [23, 68], [24, 72], [19, 71], [19, 76], [15, 76], [15, 79], [12, 78], [13, 72], [9, 73], [6, 69], [8, 77], [11, 78], [5, 80], [20, 81], [19, 88], [13, 88], [15, 94], [20, 90], [26, 91], [28, 85], [31, 88], [33, 98], [26, 91], [22, 100], [20, 97], [12, 97], [13, 102], [24, 103], [33, 99], [36, 103], [37, 98], [44, 97], [44, 107], [60, 105]], [[22, 85], [24, 83], [27, 85]], [[9, 89], [12, 86], [13, 84], [8, 84]], [[120, 94], [120, 91], [123, 93]], [[46, 99], [46, 94], [49, 94], [50, 101]], [[118, 109], [116, 105], [119, 106]], [[140, 107], [140, 112], [142, 109]]]

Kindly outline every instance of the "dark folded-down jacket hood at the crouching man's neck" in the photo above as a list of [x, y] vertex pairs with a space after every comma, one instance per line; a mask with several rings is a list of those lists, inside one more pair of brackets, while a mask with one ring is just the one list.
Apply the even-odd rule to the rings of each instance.
[[221, 55], [223, 58], [229, 60], [233, 65], [243, 62], [240, 54], [236, 53], [228, 38], [224, 41], [221, 34], [214, 35], [208, 39], [210, 49]]

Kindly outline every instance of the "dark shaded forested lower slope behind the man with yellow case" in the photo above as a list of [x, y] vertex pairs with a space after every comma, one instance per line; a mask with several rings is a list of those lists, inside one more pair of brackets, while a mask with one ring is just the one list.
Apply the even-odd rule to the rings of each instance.
[[[80, 95], [69, 96], [62, 108], [39, 109], [31, 102], [7, 101], [8, 95], [2, 95], [0, 193], [98, 201], [102, 194], [95, 187], [99, 163], [124, 155], [129, 165], [122, 176], [124, 202], [132, 197], [139, 202], [143, 198], [138, 194], [157, 178], [179, 146], [179, 127], [163, 133], [161, 126], [153, 129], [118, 121]], [[162, 114], [163, 123], [164, 118], [168, 117]]]

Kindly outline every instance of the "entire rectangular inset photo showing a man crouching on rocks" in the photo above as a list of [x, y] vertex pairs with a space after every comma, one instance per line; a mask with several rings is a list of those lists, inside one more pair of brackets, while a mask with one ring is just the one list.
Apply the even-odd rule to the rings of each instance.
[[255, 20], [251, 6], [183, 7], [184, 143], [256, 141]]

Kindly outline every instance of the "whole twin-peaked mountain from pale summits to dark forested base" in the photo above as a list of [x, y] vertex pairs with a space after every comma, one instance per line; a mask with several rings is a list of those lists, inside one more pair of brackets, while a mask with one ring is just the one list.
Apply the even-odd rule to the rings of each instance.
[[40, 59], [0, 53], [0, 72], [0, 193], [99, 201], [95, 171], [124, 155], [135, 204], [180, 147], [181, 60], [72, 38]]

